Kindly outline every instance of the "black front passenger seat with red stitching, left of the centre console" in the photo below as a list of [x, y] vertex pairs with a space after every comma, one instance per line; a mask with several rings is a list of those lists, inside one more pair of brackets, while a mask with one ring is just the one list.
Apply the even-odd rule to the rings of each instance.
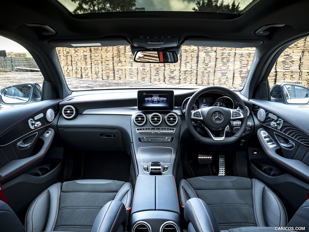
[[[16, 231], [124, 231], [125, 208], [131, 207], [132, 194], [131, 184], [122, 181], [76, 180], [56, 183], [43, 191], [28, 208], [26, 230], [19, 228]], [[0, 216], [16, 217], [7, 208], [1, 211], [3, 207], [6, 206], [0, 206]], [[5, 220], [4, 217], [0, 219], [1, 225], [2, 220]], [[17, 224], [20, 222], [14, 222], [13, 226]], [[12, 225], [6, 228], [1, 225], [0, 231], [11, 231], [6, 228]]]

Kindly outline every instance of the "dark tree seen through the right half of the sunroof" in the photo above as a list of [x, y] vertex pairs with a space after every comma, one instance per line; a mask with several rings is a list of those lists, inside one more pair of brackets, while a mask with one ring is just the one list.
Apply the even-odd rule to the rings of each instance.
[[193, 11], [200, 12], [220, 12], [220, 13], [234, 13], [240, 12], [239, 3], [236, 5], [235, 0], [232, 4], [224, 4], [224, 0], [198, 0], [196, 3], [197, 8], [193, 7]]

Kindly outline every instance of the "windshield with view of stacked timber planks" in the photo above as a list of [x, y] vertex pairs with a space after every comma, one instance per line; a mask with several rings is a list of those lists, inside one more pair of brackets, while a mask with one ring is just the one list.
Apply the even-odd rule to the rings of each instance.
[[130, 46], [57, 49], [70, 90], [203, 88], [242, 90], [255, 48], [182, 46], [177, 63], [137, 63]]

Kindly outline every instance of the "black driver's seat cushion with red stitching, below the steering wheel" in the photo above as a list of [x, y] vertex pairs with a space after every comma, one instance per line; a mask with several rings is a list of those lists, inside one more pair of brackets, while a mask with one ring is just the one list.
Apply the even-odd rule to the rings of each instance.
[[214, 213], [220, 230], [248, 226], [283, 227], [287, 224], [281, 200], [257, 179], [235, 176], [182, 179], [179, 196], [182, 206], [190, 198], [204, 200]]

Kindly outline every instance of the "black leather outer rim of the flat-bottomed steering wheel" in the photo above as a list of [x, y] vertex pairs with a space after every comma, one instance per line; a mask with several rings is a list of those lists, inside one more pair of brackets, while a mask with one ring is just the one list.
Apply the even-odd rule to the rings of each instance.
[[207, 138], [202, 135], [200, 135], [196, 129], [192, 125], [192, 118], [191, 118], [191, 110], [185, 111], [185, 119], [187, 123], [187, 127], [193, 137], [202, 144], [210, 144], [210, 145], [222, 145], [222, 144], [232, 144], [235, 143], [239, 138], [243, 135], [243, 133], [246, 130], [247, 127], [247, 121], [248, 121], [248, 115], [247, 115], [247, 109], [245, 107], [245, 104], [243, 103], [243, 100], [239, 97], [237, 93], [232, 91], [231, 89], [228, 89], [223, 86], [207, 86], [205, 88], [199, 89], [197, 92], [195, 92], [192, 97], [189, 99], [187, 103], [186, 109], [191, 109], [195, 101], [197, 100], [197, 97], [199, 97], [201, 94], [207, 93], [207, 92], [218, 92], [222, 93], [227, 97], [230, 97], [234, 102], [236, 102], [236, 105], [240, 108], [240, 113], [243, 115], [243, 118], [239, 119], [241, 121], [241, 126], [239, 127], [238, 132], [231, 136], [231, 137], [225, 137], [223, 140], [214, 140], [212, 138]]

